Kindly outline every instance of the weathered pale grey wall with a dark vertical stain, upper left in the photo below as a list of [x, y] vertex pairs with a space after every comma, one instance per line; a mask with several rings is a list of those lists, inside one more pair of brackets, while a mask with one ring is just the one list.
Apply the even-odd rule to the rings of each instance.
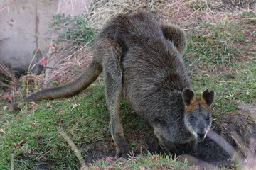
[[[1, 1], [1, 7], [6, 1]], [[11, 1], [0, 11], [0, 60], [14, 69], [25, 71], [35, 52], [33, 63], [48, 52], [51, 33], [47, 21], [57, 10], [58, 1]], [[38, 68], [33, 70], [39, 73]]]

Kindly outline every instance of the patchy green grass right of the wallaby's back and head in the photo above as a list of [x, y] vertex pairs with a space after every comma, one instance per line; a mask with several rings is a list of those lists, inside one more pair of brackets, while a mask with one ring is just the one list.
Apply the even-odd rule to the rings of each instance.
[[[188, 50], [184, 60], [191, 72], [196, 91], [215, 91], [213, 115], [237, 108], [237, 101], [252, 103], [255, 98], [255, 60], [241, 55], [246, 45], [242, 31], [244, 21], [210, 21], [199, 23], [188, 34]], [[246, 55], [246, 53], [245, 53]]]

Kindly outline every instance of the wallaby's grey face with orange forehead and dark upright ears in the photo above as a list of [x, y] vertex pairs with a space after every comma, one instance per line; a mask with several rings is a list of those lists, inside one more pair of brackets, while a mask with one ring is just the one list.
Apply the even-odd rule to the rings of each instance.
[[214, 92], [206, 90], [200, 98], [196, 98], [193, 91], [185, 89], [182, 96], [185, 104], [184, 124], [196, 140], [203, 141], [212, 123], [210, 105], [213, 103]]

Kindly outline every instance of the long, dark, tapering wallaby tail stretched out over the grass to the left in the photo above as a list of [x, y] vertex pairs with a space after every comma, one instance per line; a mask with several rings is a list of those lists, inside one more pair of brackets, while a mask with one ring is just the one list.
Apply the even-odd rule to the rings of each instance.
[[[97, 77], [102, 72], [102, 66], [97, 61], [92, 61], [85, 69], [85, 72], [75, 81], [64, 86], [52, 87], [49, 89], [44, 89], [30, 96], [24, 98], [21, 102], [27, 101], [40, 101], [43, 99], [53, 99], [53, 98], [64, 98], [74, 96], [80, 91], [86, 89], [90, 84], [92, 84]], [[14, 104], [14, 108], [18, 106], [18, 103]]]

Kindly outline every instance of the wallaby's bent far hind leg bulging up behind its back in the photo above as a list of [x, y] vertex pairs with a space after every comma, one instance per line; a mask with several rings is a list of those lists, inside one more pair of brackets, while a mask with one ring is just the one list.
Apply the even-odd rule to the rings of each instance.
[[164, 33], [164, 37], [167, 40], [174, 42], [177, 50], [182, 54], [186, 49], [186, 38], [184, 31], [178, 26], [171, 26], [167, 24], [162, 24], [161, 30]]

